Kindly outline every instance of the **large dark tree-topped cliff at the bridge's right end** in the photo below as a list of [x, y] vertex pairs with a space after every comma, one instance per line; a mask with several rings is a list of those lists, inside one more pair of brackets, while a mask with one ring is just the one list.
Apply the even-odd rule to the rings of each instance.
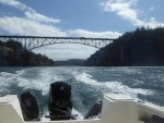
[[164, 65], [164, 28], [137, 28], [92, 54], [89, 66]]

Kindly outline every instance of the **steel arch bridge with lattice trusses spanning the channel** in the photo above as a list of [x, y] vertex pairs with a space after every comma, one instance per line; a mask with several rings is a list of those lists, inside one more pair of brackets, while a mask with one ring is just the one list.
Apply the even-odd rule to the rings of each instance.
[[14, 40], [23, 45], [27, 50], [55, 44], [80, 44], [95, 48], [103, 48], [116, 39], [112, 38], [85, 38], [85, 37], [40, 37], [40, 36], [0, 36], [1, 41]]

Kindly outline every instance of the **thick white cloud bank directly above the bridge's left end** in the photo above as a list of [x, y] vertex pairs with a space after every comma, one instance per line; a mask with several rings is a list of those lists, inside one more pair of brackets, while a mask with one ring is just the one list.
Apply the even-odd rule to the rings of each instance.
[[59, 28], [23, 17], [0, 17], [0, 29], [11, 35], [67, 36]]

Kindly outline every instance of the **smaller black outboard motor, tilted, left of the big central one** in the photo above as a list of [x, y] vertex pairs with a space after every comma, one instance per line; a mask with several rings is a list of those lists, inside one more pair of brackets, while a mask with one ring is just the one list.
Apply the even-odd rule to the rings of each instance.
[[39, 120], [39, 106], [33, 93], [24, 93], [20, 96], [21, 108], [25, 121]]

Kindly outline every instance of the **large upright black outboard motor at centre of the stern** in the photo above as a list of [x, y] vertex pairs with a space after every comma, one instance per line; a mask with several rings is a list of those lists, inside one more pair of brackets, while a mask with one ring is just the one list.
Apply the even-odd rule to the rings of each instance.
[[66, 82], [55, 82], [49, 88], [50, 120], [74, 119], [72, 112], [71, 85]]

